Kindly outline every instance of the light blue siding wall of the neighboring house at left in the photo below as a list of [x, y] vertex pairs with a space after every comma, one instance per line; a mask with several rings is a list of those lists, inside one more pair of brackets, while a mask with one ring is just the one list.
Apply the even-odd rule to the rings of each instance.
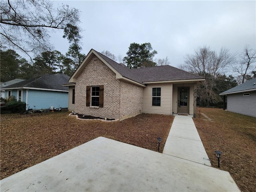
[[[26, 93], [26, 90], [24, 92]], [[68, 92], [28, 90], [27, 108], [41, 110], [48, 109], [51, 106], [67, 108]]]

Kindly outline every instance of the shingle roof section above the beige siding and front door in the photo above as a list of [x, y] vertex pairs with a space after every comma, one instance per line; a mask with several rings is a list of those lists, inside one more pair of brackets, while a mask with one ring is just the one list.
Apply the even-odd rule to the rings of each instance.
[[204, 77], [194, 75], [170, 65], [133, 69], [132, 72], [142, 82], [204, 79]]

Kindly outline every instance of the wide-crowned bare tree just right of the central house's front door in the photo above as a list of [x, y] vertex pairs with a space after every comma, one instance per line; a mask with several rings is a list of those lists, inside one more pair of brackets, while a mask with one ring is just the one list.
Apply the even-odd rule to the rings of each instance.
[[206, 78], [202, 86], [198, 88], [198, 95], [204, 105], [220, 101], [219, 93], [214, 92], [215, 78], [218, 74], [224, 74], [226, 68], [235, 62], [235, 54], [222, 47], [220, 52], [213, 51], [210, 47], [198, 47], [194, 54], [184, 56], [184, 64], [179, 68], [198, 74]]

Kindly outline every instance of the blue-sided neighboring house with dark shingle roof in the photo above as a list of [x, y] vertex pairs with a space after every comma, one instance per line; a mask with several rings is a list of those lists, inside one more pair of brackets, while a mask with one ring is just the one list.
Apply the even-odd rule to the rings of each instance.
[[68, 108], [69, 76], [65, 74], [46, 74], [1, 88], [5, 90], [5, 98], [14, 96], [17, 101], [26, 103], [26, 109], [33, 110]]

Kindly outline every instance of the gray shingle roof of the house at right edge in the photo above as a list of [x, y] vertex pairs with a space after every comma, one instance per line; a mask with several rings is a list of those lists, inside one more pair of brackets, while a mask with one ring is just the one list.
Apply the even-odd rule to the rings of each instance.
[[229, 90], [226, 90], [226, 91], [222, 92], [220, 95], [231, 94], [231, 93], [235, 93], [235, 92], [246, 92], [249, 90], [256, 90], [256, 78], [246, 81], [245, 83], [240, 84], [236, 87], [233, 87]]

